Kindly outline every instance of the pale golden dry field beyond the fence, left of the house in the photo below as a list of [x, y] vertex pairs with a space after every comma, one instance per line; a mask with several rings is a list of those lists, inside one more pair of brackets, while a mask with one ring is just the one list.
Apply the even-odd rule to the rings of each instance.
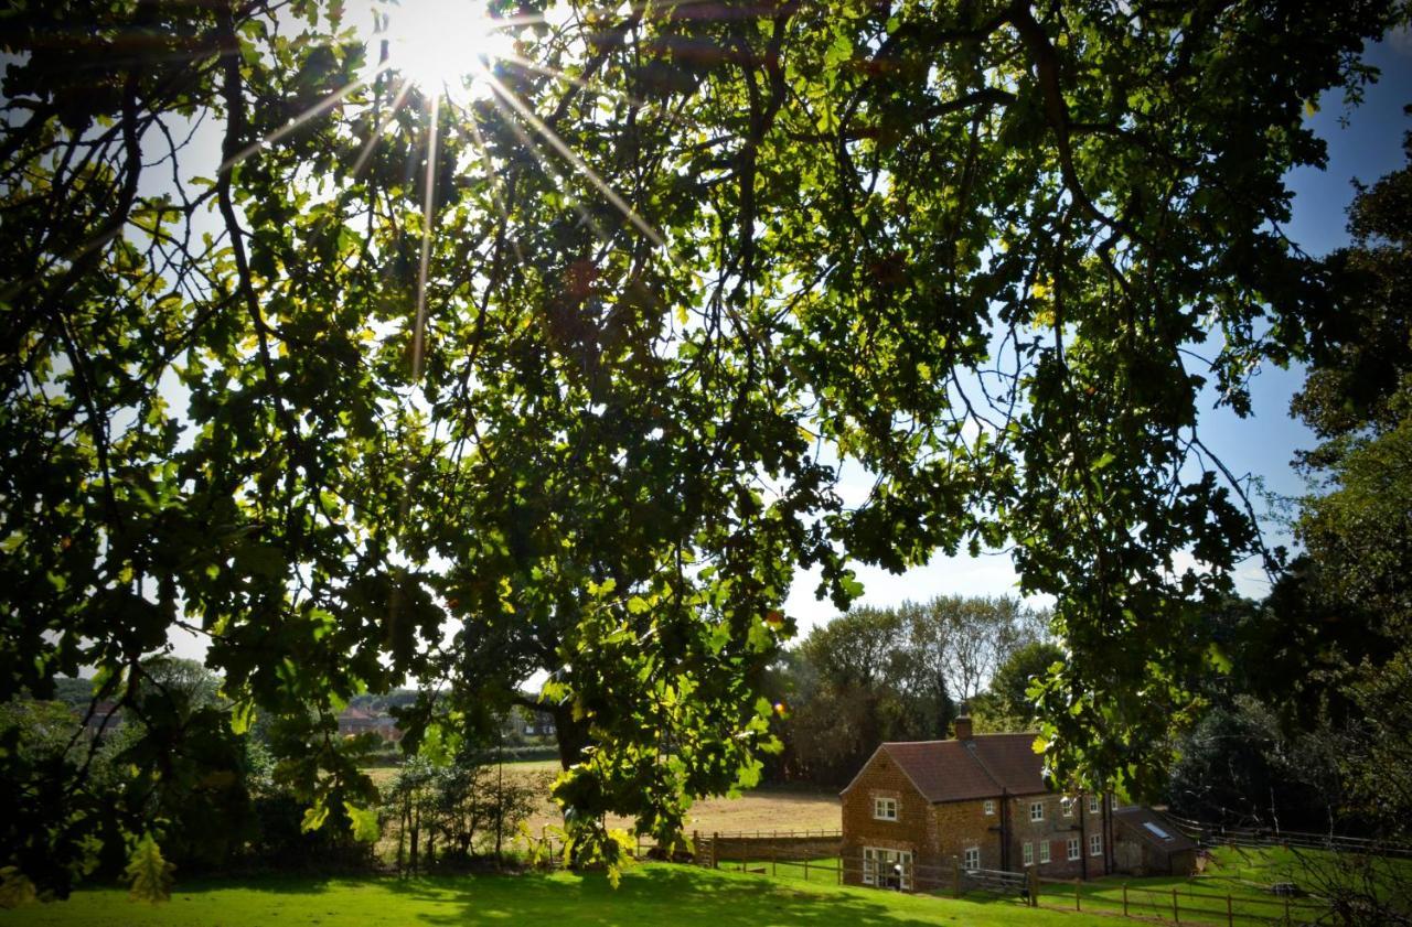
[[[556, 761], [527, 763], [505, 763], [505, 775], [549, 776], [559, 772]], [[367, 770], [373, 782], [383, 784], [397, 775], [395, 769]], [[530, 818], [530, 827], [538, 832], [544, 825], [561, 824], [558, 810], [548, 792], [539, 810]], [[631, 821], [609, 818], [610, 827], [630, 828]], [[839, 796], [832, 790], [816, 789], [754, 789], [738, 799], [705, 799], [690, 807], [686, 814], [686, 831], [702, 834], [740, 831], [836, 831], [839, 818]]]

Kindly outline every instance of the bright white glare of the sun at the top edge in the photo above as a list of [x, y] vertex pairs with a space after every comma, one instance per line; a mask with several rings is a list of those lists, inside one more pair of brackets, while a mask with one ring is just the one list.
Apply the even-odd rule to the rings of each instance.
[[489, 96], [484, 75], [511, 52], [513, 40], [486, 0], [401, 0], [376, 8], [374, 38], [387, 42], [388, 68], [425, 93]]

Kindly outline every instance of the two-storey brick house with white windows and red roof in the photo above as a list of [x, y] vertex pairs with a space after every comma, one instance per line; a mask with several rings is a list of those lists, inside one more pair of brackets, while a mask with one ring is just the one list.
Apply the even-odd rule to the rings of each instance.
[[[843, 790], [844, 882], [949, 885], [955, 866], [1083, 878], [1113, 872], [1113, 801], [1045, 786], [1034, 734], [882, 744]], [[861, 865], [849, 861], [861, 859]]]

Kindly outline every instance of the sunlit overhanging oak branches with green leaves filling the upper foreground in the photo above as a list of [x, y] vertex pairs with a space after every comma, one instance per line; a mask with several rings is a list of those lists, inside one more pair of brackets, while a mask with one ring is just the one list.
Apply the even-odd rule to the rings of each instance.
[[[14, 4], [0, 698], [137, 701], [196, 629], [316, 821], [370, 799], [346, 698], [448, 684], [415, 744], [542, 667], [611, 847], [750, 782], [799, 567], [1008, 549], [1056, 769], [1151, 786], [1260, 549], [1197, 395], [1305, 354], [1282, 178], [1406, 6], [490, 8], [442, 99], [340, 3]], [[51, 811], [6, 855], [72, 856]]]

